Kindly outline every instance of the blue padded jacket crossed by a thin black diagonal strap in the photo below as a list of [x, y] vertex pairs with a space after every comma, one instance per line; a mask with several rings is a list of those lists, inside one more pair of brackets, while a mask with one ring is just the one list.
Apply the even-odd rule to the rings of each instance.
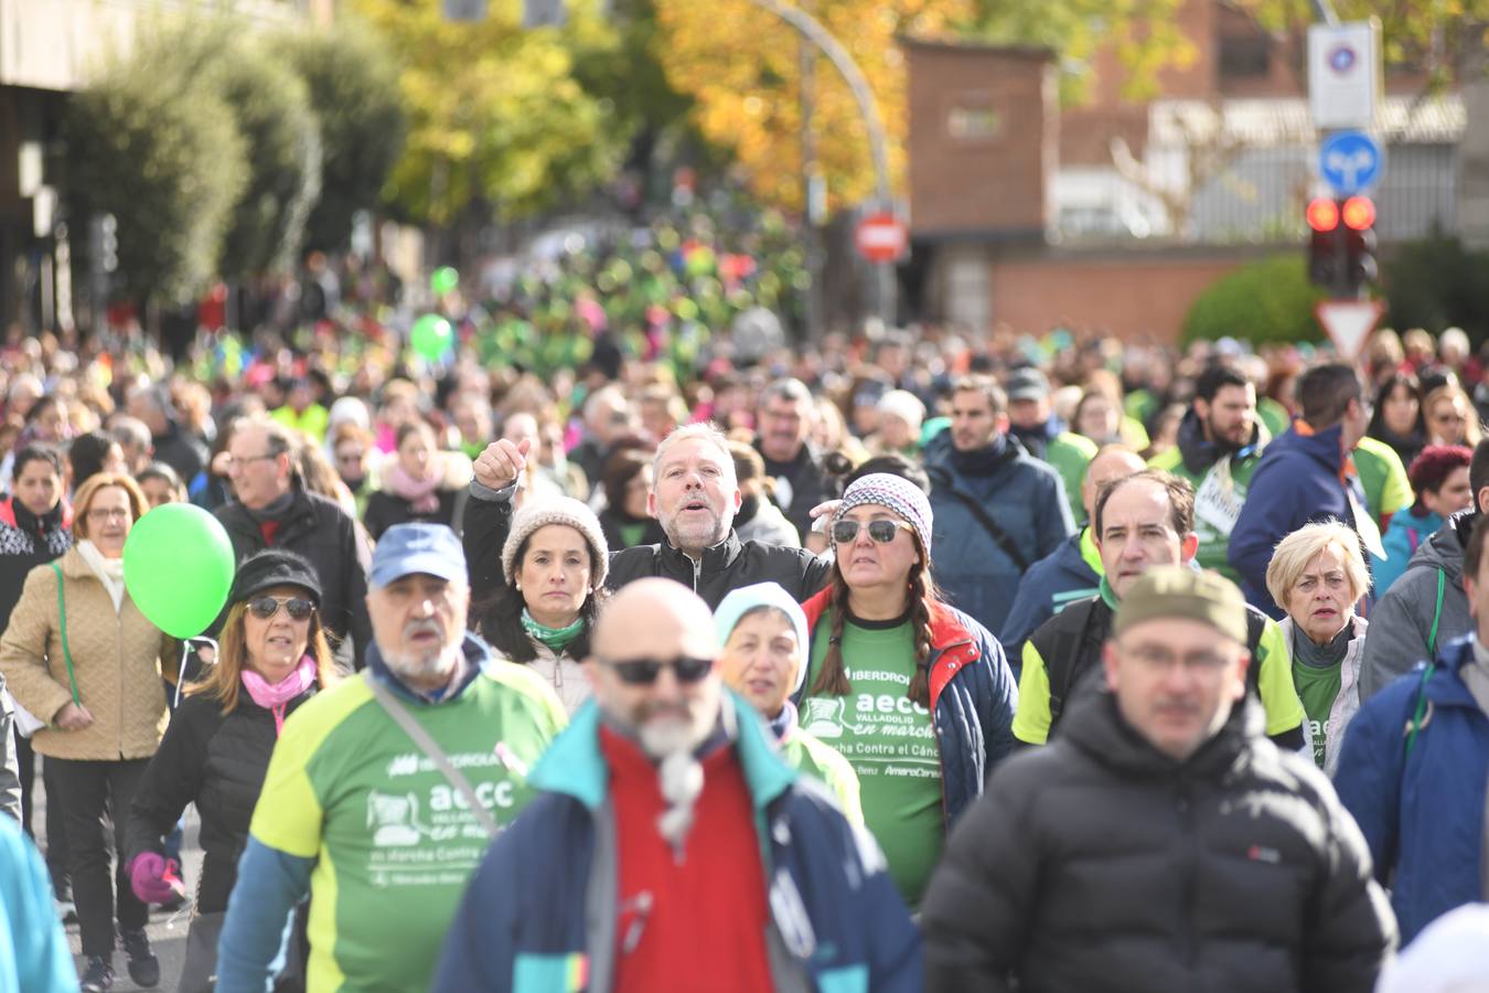
[[[1002, 439], [1005, 454], [989, 475], [963, 475], [953, 466], [951, 432], [926, 448], [931, 511], [935, 515], [932, 557], [935, 581], [950, 603], [966, 610], [989, 631], [1001, 631], [1024, 570], [1060, 546], [1075, 531], [1060, 475], [1030, 459], [1014, 438]], [[1020, 567], [989, 536], [972, 511], [938, 482], [938, 476], [977, 499], [1023, 555]]]

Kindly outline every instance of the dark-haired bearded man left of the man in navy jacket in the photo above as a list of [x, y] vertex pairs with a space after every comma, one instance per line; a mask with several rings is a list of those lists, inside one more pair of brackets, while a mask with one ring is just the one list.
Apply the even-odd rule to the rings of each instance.
[[1231, 582], [1239, 576], [1227, 561], [1230, 530], [1270, 439], [1257, 418], [1257, 387], [1236, 369], [1217, 365], [1194, 383], [1194, 402], [1179, 423], [1178, 444], [1148, 463], [1194, 487], [1194, 533], [1200, 536], [1196, 558], [1202, 569], [1214, 569]]

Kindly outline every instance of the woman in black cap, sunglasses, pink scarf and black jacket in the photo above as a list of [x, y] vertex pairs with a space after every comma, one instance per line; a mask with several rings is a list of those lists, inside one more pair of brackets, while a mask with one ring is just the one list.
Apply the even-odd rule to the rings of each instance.
[[186, 686], [125, 828], [134, 895], [162, 904], [182, 887], [180, 866], [165, 858], [165, 835], [186, 804], [201, 814], [205, 858], [176, 987], [183, 993], [211, 989], [217, 930], [284, 719], [335, 680], [319, 616], [320, 579], [307, 560], [280, 549], [243, 560], [228, 604], [217, 662]]

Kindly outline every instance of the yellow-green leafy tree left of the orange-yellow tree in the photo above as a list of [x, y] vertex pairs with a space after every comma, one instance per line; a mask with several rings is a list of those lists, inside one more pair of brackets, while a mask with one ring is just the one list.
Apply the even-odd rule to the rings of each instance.
[[517, 217], [610, 179], [625, 122], [575, 66], [616, 48], [594, 0], [570, 0], [563, 28], [524, 30], [518, 0], [454, 24], [439, 0], [353, 0], [402, 66], [408, 146], [386, 194], [408, 216], [450, 225], [472, 205]]

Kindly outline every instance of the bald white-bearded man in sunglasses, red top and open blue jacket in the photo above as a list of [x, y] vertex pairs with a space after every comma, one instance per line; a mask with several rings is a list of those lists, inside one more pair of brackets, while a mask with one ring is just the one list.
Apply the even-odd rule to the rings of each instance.
[[873, 838], [722, 688], [707, 604], [637, 579], [600, 613], [594, 698], [466, 890], [433, 989], [920, 989]]

